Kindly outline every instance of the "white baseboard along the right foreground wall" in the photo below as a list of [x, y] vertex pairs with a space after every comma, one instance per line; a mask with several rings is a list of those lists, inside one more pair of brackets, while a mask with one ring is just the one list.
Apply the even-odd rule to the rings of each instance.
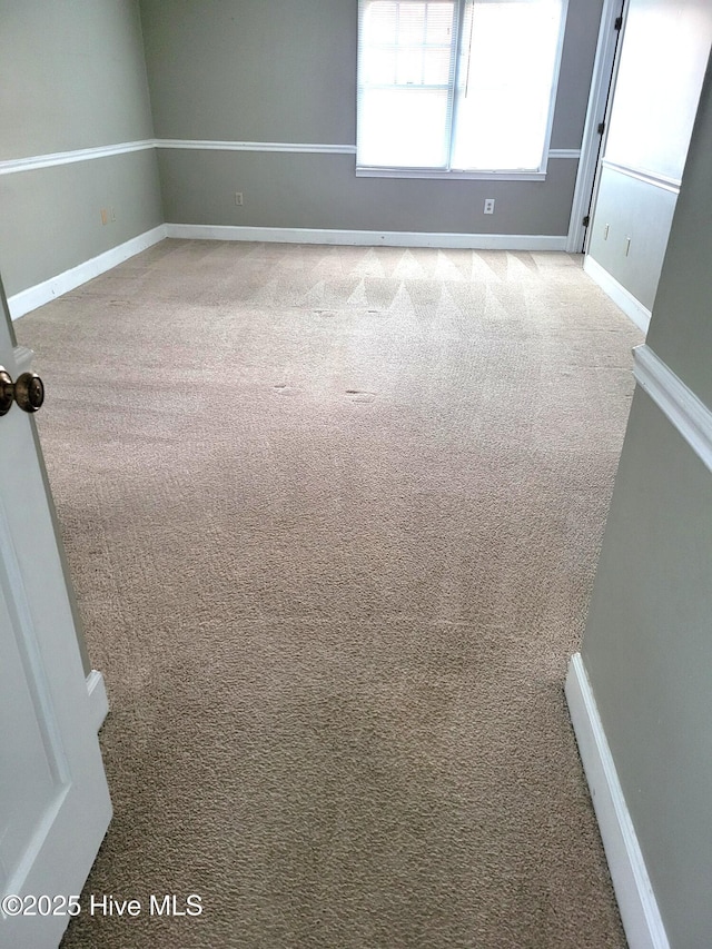
[[670, 949], [581, 653], [568, 665], [566, 700], [629, 946]]

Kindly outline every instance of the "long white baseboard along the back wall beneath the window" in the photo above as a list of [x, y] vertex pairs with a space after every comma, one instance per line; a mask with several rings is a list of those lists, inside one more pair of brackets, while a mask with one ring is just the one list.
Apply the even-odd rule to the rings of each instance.
[[564, 250], [566, 237], [531, 234], [422, 234], [406, 230], [334, 230], [306, 227], [233, 227], [167, 224], [166, 237], [190, 240], [255, 240], [281, 244], [346, 244], [364, 247], [442, 247], [473, 250]]

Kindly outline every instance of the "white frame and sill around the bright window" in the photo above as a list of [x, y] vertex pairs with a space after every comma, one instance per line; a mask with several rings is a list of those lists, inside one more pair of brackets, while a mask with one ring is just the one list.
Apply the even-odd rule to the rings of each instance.
[[[456, 6], [455, 20], [457, 23], [457, 32], [459, 33], [463, 23], [464, 9], [468, 0], [453, 0]], [[554, 60], [554, 72], [552, 78], [552, 89], [548, 101], [548, 118], [546, 122], [546, 134], [544, 137], [544, 148], [542, 152], [542, 161], [536, 170], [514, 171], [514, 170], [449, 170], [441, 168], [408, 168], [408, 167], [382, 167], [368, 166], [358, 164], [358, 134], [360, 126], [360, 76], [357, 76], [357, 105], [356, 105], [356, 177], [357, 178], [425, 178], [441, 179], [448, 181], [456, 180], [479, 180], [479, 181], [545, 181], [548, 167], [548, 159], [553, 157], [551, 149], [552, 128], [554, 125], [554, 111], [556, 106], [556, 96], [558, 92], [558, 78], [561, 72], [562, 51], [564, 47], [564, 37], [566, 33], [566, 21], [568, 13], [568, 0], [561, 0], [561, 26], [558, 30], [558, 39], [556, 43], [556, 52]], [[358, 21], [358, 43], [360, 46], [360, 3], [359, 3], [359, 21]], [[454, 40], [455, 48], [459, 45], [459, 36]], [[457, 57], [457, 51], [455, 52]], [[358, 56], [360, 63], [360, 52]], [[455, 70], [455, 83], [457, 83], [457, 70]], [[453, 113], [454, 115], [454, 113]]]

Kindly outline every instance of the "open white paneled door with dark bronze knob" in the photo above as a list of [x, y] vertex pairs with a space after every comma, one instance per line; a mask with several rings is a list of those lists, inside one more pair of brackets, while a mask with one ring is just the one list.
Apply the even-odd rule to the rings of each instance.
[[[14, 380], [1, 281], [0, 310]], [[111, 819], [55, 524], [34, 422], [13, 404], [0, 417], [2, 949], [58, 946]]]

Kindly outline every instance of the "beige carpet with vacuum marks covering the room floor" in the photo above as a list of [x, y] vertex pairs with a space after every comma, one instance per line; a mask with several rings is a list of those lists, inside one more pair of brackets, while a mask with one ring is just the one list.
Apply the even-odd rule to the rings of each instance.
[[640, 334], [564, 254], [164, 241], [17, 324], [116, 817], [65, 949], [625, 945], [563, 696]]

